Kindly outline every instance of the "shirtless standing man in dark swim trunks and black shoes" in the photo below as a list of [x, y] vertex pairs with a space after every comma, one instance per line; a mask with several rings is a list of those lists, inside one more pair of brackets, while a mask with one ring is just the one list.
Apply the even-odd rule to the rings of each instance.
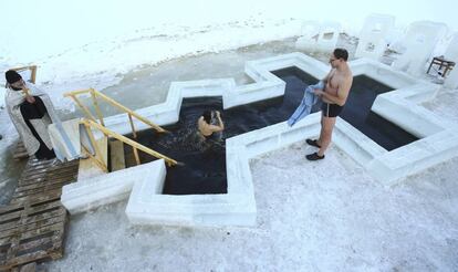
[[336, 117], [345, 105], [353, 82], [352, 71], [346, 63], [347, 60], [348, 52], [346, 50], [335, 49], [330, 59], [332, 69], [323, 80], [325, 83], [324, 91], [318, 88], [314, 91], [323, 101], [321, 107], [321, 132], [320, 138], [306, 139], [306, 143], [320, 148], [320, 150], [306, 155], [305, 157], [309, 160], [324, 159], [324, 151], [331, 144]]

